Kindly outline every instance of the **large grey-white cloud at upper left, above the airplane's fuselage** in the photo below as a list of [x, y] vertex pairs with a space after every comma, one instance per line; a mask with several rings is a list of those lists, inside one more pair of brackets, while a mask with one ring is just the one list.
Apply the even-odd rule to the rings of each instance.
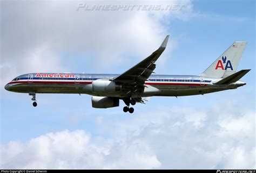
[[[17, 75], [35, 71], [82, 73], [86, 70], [91, 73], [107, 73], [113, 67], [129, 68], [149, 56], [158, 48], [165, 35], [170, 34], [166, 25], [170, 23], [170, 17], [183, 20], [193, 8], [190, 1], [171, 1], [169, 5], [185, 5], [183, 10], [77, 11], [79, 3], [1, 2], [1, 83], [5, 84]], [[93, 5], [103, 2], [88, 3]], [[175, 44], [176, 41], [170, 39], [166, 52], [171, 52]], [[163, 56], [159, 64], [164, 65], [165, 60]], [[126, 67], [126, 64], [129, 66]]]

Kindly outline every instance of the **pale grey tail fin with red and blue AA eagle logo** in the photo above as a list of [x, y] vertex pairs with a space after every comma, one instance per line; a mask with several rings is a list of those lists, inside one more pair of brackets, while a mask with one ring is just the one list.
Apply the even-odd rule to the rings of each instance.
[[201, 76], [224, 78], [234, 74], [237, 71], [245, 46], [245, 41], [235, 41]]

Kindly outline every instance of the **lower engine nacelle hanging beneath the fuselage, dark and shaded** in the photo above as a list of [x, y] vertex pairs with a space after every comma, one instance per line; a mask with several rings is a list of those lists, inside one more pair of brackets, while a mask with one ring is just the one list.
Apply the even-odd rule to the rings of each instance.
[[108, 108], [119, 106], [119, 98], [92, 96], [92, 107]]

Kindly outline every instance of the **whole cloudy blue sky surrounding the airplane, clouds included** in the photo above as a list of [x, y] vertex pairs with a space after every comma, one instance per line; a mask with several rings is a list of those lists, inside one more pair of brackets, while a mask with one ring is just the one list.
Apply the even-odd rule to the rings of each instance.
[[[91, 10], [81, 4], [183, 5]], [[78, 9], [78, 10], [77, 10]], [[4, 90], [37, 73], [119, 74], [170, 34], [156, 74], [202, 73], [247, 41], [235, 90], [151, 97], [134, 113], [94, 109], [91, 96]], [[256, 169], [254, 1], [1, 1], [1, 169]]]

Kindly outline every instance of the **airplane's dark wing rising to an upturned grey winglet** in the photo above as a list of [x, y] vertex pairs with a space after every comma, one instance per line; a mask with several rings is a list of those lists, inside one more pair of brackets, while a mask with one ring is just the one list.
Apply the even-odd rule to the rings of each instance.
[[154, 64], [154, 62], [156, 62], [158, 57], [164, 52], [168, 39], [169, 35], [166, 36], [157, 51], [154, 51], [149, 57], [139, 62], [131, 69], [125, 71], [125, 73], [113, 78], [112, 81], [124, 83], [126, 86], [130, 85], [129, 90], [131, 91], [131, 88], [133, 88], [133, 92], [137, 91], [139, 87], [144, 88], [145, 81], [156, 68], [156, 64]]

